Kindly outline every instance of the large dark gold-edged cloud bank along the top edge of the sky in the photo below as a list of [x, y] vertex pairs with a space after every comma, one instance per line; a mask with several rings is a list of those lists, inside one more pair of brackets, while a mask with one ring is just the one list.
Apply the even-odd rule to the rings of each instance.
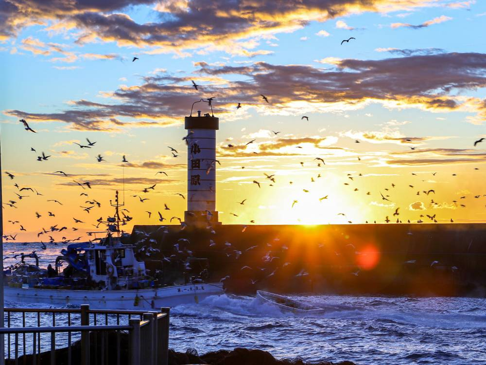
[[[188, 49], [253, 56], [265, 51], [252, 50], [252, 41], [293, 32], [311, 21], [361, 12], [410, 11], [435, 6], [437, 0], [300, 1], [281, 2], [278, 6], [268, 0], [2, 0], [0, 4], [0, 40], [16, 37], [22, 29], [37, 25], [52, 34], [69, 33], [78, 45], [102, 41], [181, 56], [187, 55], [184, 50]], [[153, 11], [160, 20], [138, 23], [122, 12], [142, 4], [155, 4]]]

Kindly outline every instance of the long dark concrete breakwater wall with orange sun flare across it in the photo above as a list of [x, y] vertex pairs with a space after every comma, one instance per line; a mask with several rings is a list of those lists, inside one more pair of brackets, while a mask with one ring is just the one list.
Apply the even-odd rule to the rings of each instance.
[[486, 224], [160, 227], [133, 229], [133, 243], [155, 246], [155, 239], [161, 250], [140, 254], [149, 266], [163, 268], [173, 255], [208, 257], [208, 280], [226, 278], [233, 292], [486, 292]]

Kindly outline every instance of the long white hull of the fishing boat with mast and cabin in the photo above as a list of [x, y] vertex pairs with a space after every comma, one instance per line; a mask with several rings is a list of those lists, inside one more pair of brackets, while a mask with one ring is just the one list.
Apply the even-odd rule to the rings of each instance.
[[157, 310], [180, 304], [197, 304], [209, 295], [219, 295], [223, 292], [222, 283], [116, 291], [4, 287], [4, 298], [16, 303], [44, 303], [56, 306], [89, 304], [92, 309]]

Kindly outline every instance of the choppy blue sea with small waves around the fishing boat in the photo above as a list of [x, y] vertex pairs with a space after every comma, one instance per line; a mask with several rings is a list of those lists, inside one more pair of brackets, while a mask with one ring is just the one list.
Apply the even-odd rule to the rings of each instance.
[[[38, 248], [26, 244], [20, 252], [37, 249], [44, 267], [59, 252], [55, 246]], [[18, 244], [5, 243], [4, 257], [18, 249]], [[5, 259], [4, 266], [9, 260], [15, 259]], [[210, 296], [197, 305], [171, 309], [170, 347], [182, 352], [195, 349], [199, 354], [256, 348], [278, 359], [348, 360], [360, 365], [486, 364], [484, 298], [313, 293], [289, 297], [327, 311], [296, 315], [252, 296]], [[51, 308], [42, 303], [35, 306]], [[5, 307], [22, 304], [6, 302]]]

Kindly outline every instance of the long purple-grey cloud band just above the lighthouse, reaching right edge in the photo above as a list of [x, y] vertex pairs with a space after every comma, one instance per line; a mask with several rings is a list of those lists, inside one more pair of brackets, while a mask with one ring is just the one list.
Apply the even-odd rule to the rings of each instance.
[[[247, 108], [255, 108], [278, 115], [295, 115], [296, 110], [299, 114], [343, 112], [382, 103], [386, 108], [476, 111], [471, 122], [479, 124], [486, 120], [485, 100], [455, 95], [457, 91], [486, 86], [486, 54], [444, 53], [333, 62], [335, 67], [331, 70], [267, 62], [244, 66], [197, 62], [199, 76], [177, 77], [168, 73], [146, 76], [141, 85], [121, 86], [103, 93], [112, 102], [81, 99], [72, 101], [71, 109], [55, 113], [3, 112], [34, 123], [65, 122], [77, 130], [171, 126], [182, 122], [180, 116], [186, 114], [187, 106], [193, 102], [193, 79], [201, 92], [218, 95], [214, 112], [231, 118], [235, 118], [236, 102], [242, 103], [240, 114]], [[231, 81], [225, 75], [231, 75]], [[268, 97], [268, 104], [261, 103], [261, 93]]]

